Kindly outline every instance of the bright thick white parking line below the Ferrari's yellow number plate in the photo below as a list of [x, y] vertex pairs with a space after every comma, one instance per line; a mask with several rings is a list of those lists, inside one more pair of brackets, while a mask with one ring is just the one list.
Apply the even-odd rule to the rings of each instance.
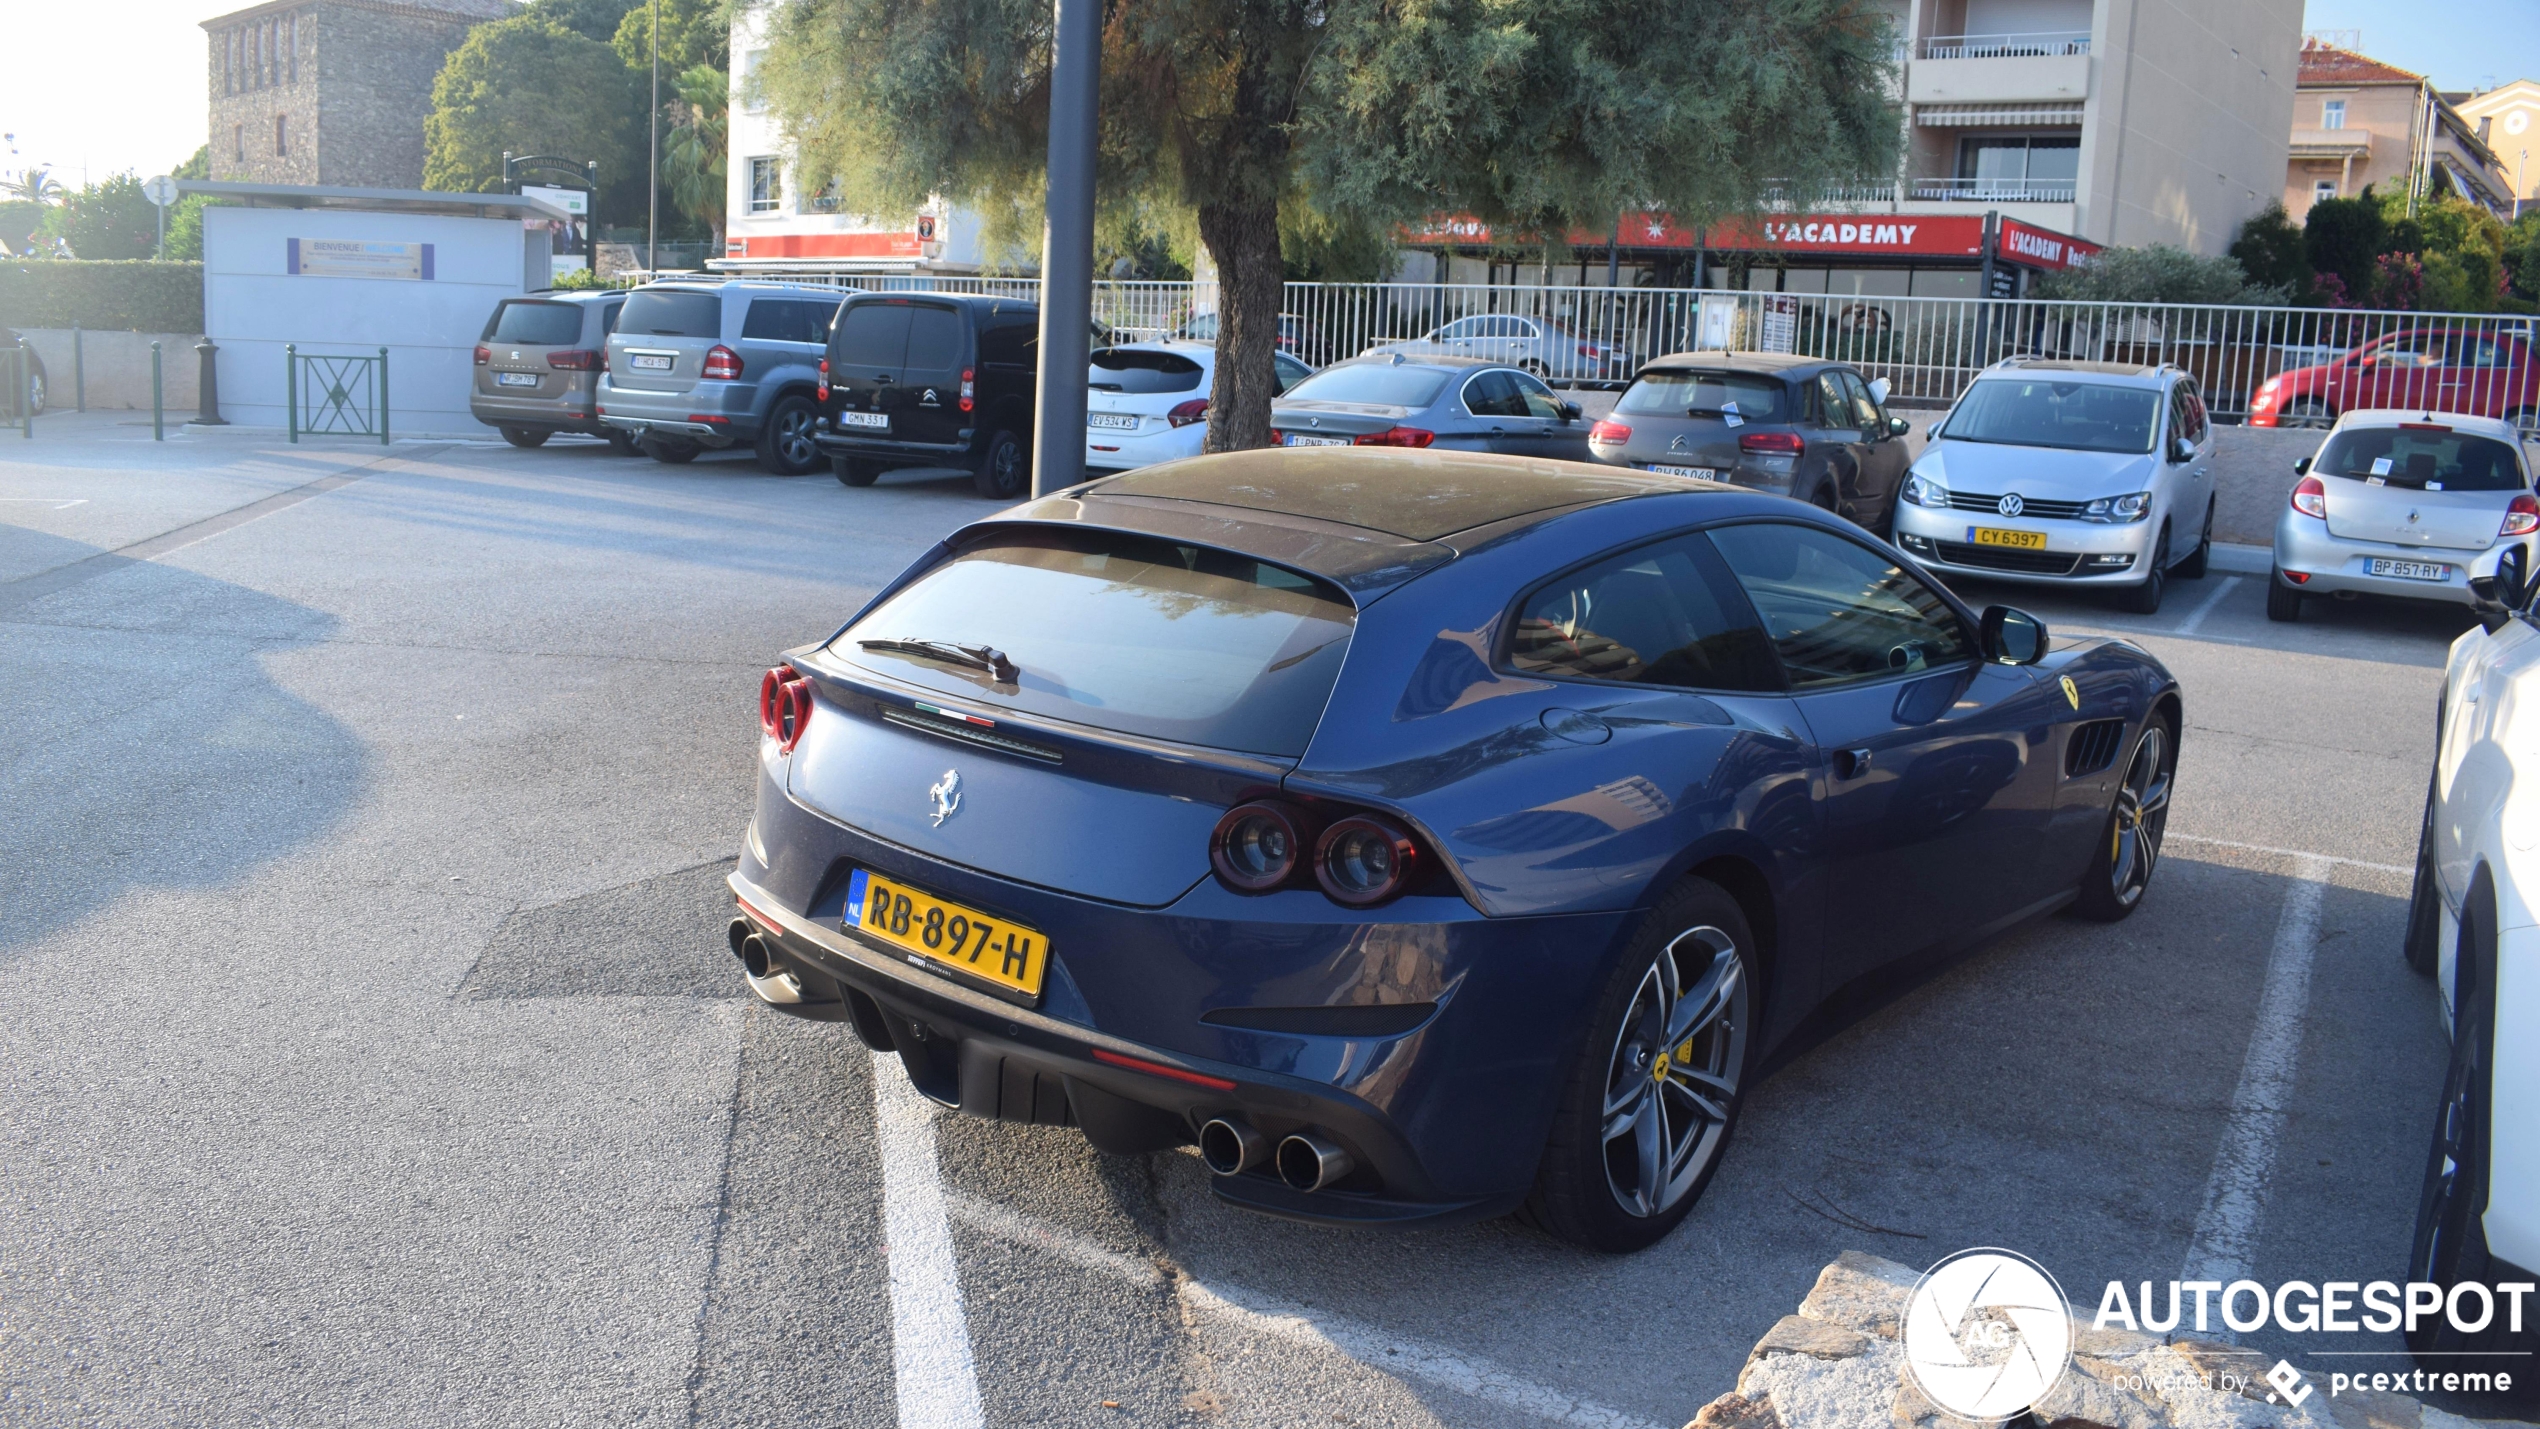
[[892, 1053], [874, 1053], [874, 1129], [881, 1142], [881, 1239], [892, 1256], [892, 1376], [899, 1429], [980, 1429], [970, 1317], [935, 1165], [935, 1102]]

